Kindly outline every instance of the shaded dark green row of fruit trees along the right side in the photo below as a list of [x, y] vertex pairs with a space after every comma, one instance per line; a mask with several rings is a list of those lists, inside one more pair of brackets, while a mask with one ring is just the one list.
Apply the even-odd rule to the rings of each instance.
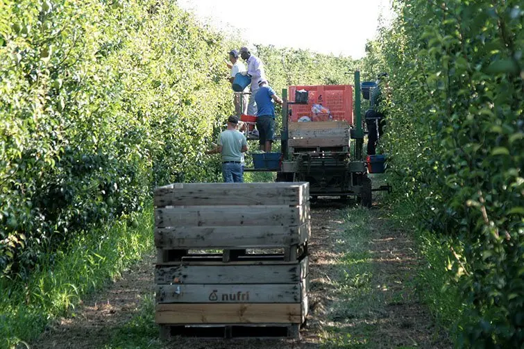
[[[382, 148], [398, 202], [457, 241], [459, 346], [524, 342], [524, 9], [521, 1], [395, 1], [364, 60], [388, 71]], [[458, 242], [459, 241], [459, 242]]]

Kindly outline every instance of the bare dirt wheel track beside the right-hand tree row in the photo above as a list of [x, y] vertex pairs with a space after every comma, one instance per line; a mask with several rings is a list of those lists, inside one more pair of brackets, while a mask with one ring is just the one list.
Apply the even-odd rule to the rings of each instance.
[[452, 348], [428, 309], [419, 302], [414, 278], [421, 259], [406, 232], [391, 225], [384, 212], [371, 210], [373, 287], [382, 303], [376, 309], [376, 347]]

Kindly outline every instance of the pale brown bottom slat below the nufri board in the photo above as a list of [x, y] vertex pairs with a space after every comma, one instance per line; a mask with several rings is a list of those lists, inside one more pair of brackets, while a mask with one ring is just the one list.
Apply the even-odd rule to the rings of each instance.
[[182, 323], [301, 323], [301, 303], [156, 305], [155, 322]]

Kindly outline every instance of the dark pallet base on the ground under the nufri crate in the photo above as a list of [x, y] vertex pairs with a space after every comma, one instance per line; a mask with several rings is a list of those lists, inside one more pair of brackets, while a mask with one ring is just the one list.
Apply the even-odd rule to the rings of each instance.
[[238, 325], [160, 325], [160, 338], [199, 337], [225, 339], [276, 339], [300, 338], [301, 324], [289, 325], [278, 323], [238, 324]]

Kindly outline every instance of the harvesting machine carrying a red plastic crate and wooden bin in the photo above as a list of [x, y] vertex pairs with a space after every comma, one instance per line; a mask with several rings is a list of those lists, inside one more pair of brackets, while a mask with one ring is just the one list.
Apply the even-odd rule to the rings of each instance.
[[[318, 196], [342, 199], [354, 196], [366, 207], [371, 206], [372, 191], [389, 190], [384, 186], [371, 187], [368, 176], [371, 166], [362, 153], [364, 130], [360, 94], [360, 71], [355, 71], [354, 87], [289, 87], [289, 95], [294, 96], [294, 100], [282, 106], [282, 155], [279, 162], [270, 166], [277, 171], [278, 181], [310, 182], [312, 200]], [[288, 91], [282, 90], [285, 101], [287, 95]], [[260, 156], [264, 155], [271, 153]]]

